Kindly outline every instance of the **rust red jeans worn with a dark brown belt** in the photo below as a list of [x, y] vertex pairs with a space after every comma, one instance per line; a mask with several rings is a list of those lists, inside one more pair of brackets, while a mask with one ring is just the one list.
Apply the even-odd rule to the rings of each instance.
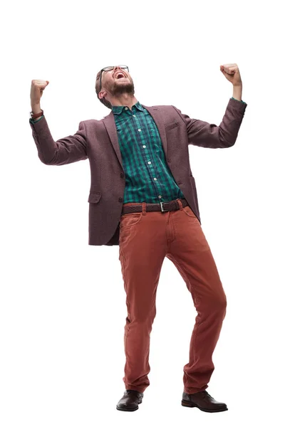
[[[190, 206], [177, 211], [124, 214], [120, 221], [119, 259], [128, 317], [125, 323], [125, 389], [145, 391], [150, 381], [150, 332], [155, 319], [160, 270], [169, 258], [185, 280], [197, 310], [184, 391], [207, 389], [214, 371], [212, 354], [226, 315], [227, 299], [201, 225]], [[124, 206], [135, 205], [126, 203]]]

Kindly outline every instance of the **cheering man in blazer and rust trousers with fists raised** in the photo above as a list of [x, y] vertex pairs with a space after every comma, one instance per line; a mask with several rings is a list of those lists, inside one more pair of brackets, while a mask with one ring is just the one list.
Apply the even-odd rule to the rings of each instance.
[[[62, 165], [89, 159], [90, 245], [119, 245], [128, 316], [125, 323], [125, 391], [117, 408], [135, 411], [150, 381], [150, 332], [162, 262], [172, 260], [197, 310], [184, 367], [182, 405], [227, 411], [208, 387], [227, 300], [201, 228], [189, 144], [232, 147], [247, 103], [237, 64], [220, 70], [233, 85], [219, 126], [190, 118], [173, 105], [146, 107], [135, 97], [126, 65], [98, 72], [95, 90], [111, 112], [79, 123], [75, 135], [53, 140], [40, 98], [48, 80], [32, 80], [33, 139], [41, 162]], [[39, 118], [38, 118], [39, 117]]]

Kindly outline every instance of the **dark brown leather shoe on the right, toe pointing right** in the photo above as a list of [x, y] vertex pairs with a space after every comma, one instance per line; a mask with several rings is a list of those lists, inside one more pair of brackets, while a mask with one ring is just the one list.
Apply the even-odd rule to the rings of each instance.
[[181, 404], [189, 408], [196, 407], [205, 412], [222, 412], [228, 410], [226, 404], [214, 400], [206, 390], [198, 391], [193, 394], [187, 394], [183, 391]]

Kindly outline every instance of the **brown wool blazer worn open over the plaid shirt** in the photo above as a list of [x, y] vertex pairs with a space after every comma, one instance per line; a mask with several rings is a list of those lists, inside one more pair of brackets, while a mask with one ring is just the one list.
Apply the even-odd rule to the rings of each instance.
[[[167, 164], [201, 223], [188, 144], [206, 148], [232, 147], [247, 103], [230, 98], [219, 126], [191, 119], [173, 105], [142, 106], [155, 120]], [[75, 135], [57, 141], [51, 136], [45, 116], [34, 124], [30, 122], [30, 125], [38, 157], [44, 164], [61, 165], [89, 159], [88, 245], [118, 245], [125, 174], [113, 112], [102, 120], [80, 122]]]

